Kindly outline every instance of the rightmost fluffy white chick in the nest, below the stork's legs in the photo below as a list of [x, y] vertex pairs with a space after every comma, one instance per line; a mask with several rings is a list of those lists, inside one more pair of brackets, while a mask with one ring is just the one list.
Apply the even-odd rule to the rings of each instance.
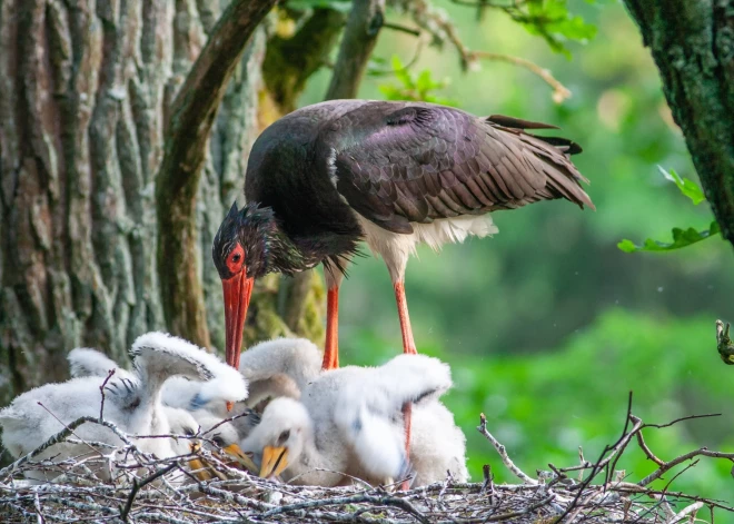
[[[443, 443], [432, 441], [434, 428], [424, 422], [430, 419], [432, 411], [442, 408], [450, 417], [436, 401], [450, 386], [448, 366], [425, 355], [400, 355], [375, 368], [348, 366], [324, 372], [306, 385], [300, 402], [272, 401], [265, 408], [260, 425], [241, 447], [256, 454], [266, 446], [287, 448], [288, 467], [282, 477], [294, 483], [334, 486], [351, 482], [334, 472], [384, 483], [407, 472], [403, 404], [416, 403], [414, 417], [420, 424], [414, 426], [414, 432], [419, 432], [420, 442], [415, 452], [428, 456], [430, 449], [439, 448]], [[415, 415], [420, 409], [425, 409], [425, 416]], [[450, 425], [455, 428], [453, 421]], [[464, 435], [458, 428], [456, 432], [460, 438], [449, 451], [453, 459], [443, 459], [438, 467], [455, 463], [447, 468], [456, 477], [466, 478]], [[413, 455], [414, 449], [411, 458]], [[425, 467], [425, 461], [414, 462]], [[437, 474], [426, 467], [416, 482], [423, 485], [444, 478], [445, 474], [446, 469]]]

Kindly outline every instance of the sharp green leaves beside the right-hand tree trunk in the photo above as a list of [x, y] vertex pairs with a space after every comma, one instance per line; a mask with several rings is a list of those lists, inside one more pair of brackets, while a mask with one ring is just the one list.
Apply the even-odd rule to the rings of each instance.
[[[697, 206], [706, 199], [703, 190], [696, 182], [688, 180], [687, 178], [681, 178], [681, 176], [673, 169], [665, 170], [661, 166], [657, 166], [657, 169], [663, 174], [666, 180], [675, 184], [681, 192], [691, 199], [694, 206]], [[672, 243], [662, 243], [659, 240], [647, 238], [645, 244], [638, 246], [632, 240], [625, 238], [619, 244], [617, 244], [617, 247], [625, 253], [673, 251], [675, 249], [682, 249], [693, 244], [697, 244], [701, 240], [705, 240], [706, 238], [716, 236], [721, 233], [721, 228], [718, 227], [718, 223], [713, 220], [708, 226], [708, 229], [704, 229], [703, 231], [700, 231], [694, 227], [690, 227], [687, 229], [674, 227], [671, 233], [673, 234]]]

